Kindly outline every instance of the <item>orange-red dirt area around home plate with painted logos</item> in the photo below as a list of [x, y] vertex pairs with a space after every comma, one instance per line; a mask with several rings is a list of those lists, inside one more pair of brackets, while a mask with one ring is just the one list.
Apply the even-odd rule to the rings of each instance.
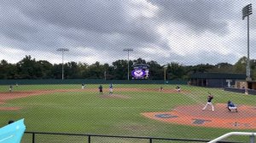
[[[229, 112], [225, 104], [214, 105], [215, 111], [203, 111], [201, 105], [177, 106], [170, 112], [144, 112], [143, 116], [166, 123], [224, 129], [256, 129], [256, 108], [239, 106], [238, 112]], [[212, 109], [212, 108], [211, 108]]]

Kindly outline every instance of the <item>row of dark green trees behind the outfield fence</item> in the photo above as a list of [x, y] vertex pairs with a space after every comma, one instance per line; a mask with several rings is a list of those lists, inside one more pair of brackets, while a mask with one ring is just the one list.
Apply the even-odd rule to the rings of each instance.
[[[189, 75], [196, 72], [211, 73], [236, 73], [246, 74], [247, 57], [241, 57], [236, 64], [232, 65], [226, 62], [216, 65], [199, 64], [196, 66], [184, 66], [177, 62], [170, 61], [165, 66], [161, 66], [154, 60], [146, 61], [142, 58], [129, 60], [129, 66], [147, 64], [149, 66], [149, 79], [163, 80], [166, 73], [166, 80], [186, 80]], [[82, 62], [67, 62], [64, 67], [64, 78], [86, 78], [86, 79], [104, 79], [124, 80], [127, 79], [127, 60], [113, 61], [112, 65], [108, 63], [101, 64], [96, 61], [88, 65]], [[251, 75], [256, 76], [256, 60], [250, 60]], [[61, 79], [62, 64], [51, 64], [47, 60], [35, 60], [30, 55], [15, 64], [8, 63], [7, 60], [0, 62], [0, 79]]]

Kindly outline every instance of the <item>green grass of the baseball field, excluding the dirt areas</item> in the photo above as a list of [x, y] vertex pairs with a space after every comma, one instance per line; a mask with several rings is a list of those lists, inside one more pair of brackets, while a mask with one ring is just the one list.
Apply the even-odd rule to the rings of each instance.
[[[86, 85], [86, 89], [97, 89], [98, 85]], [[114, 85], [118, 88], [158, 89], [160, 85]], [[9, 86], [0, 86], [1, 92], [8, 91]], [[19, 85], [15, 91], [35, 89], [80, 89], [77, 85]], [[107, 94], [108, 85], [103, 85]], [[174, 89], [175, 85], [164, 85], [164, 89]], [[84, 89], [84, 90], [86, 90]], [[143, 117], [142, 112], [166, 112], [175, 106], [193, 105], [207, 102], [207, 93], [214, 94], [214, 103], [226, 103], [232, 100], [236, 104], [251, 105], [256, 103], [253, 95], [225, 92], [222, 89], [207, 89], [183, 85], [182, 89], [189, 94], [160, 93], [158, 91], [138, 92], [122, 91], [120, 94], [129, 97], [101, 98], [98, 92], [67, 92], [31, 96], [8, 100], [0, 106], [19, 106], [20, 111], [0, 111], [0, 125], [6, 125], [9, 119], [25, 118], [26, 131], [57, 132], [74, 134], [109, 134], [151, 136], [165, 138], [185, 138], [210, 140], [219, 135], [235, 131], [234, 129], [217, 129], [191, 127], [172, 123], [162, 123]], [[236, 130], [237, 131], [237, 130]], [[254, 130], [239, 130], [254, 131]], [[28, 135], [26, 135], [28, 136]], [[64, 137], [63, 137], [64, 138]], [[239, 140], [244, 140], [239, 138]], [[81, 140], [84, 140], [81, 139]], [[86, 140], [86, 139], [85, 139]], [[95, 139], [99, 141], [99, 139]], [[111, 139], [113, 141], [113, 139]], [[108, 142], [108, 140], [105, 140]], [[43, 141], [44, 142], [44, 141]], [[57, 141], [55, 141], [57, 142]], [[79, 142], [75, 141], [75, 142]], [[82, 141], [81, 141], [82, 142]], [[119, 141], [118, 141], [119, 142]], [[136, 142], [124, 141], [124, 142]], [[143, 141], [139, 141], [143, 142]], [[147, 142], [147, 141], [145, 141]]]

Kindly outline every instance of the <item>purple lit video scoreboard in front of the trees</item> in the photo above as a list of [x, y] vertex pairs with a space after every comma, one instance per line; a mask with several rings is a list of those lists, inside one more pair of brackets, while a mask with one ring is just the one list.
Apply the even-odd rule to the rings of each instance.
[[148, 65], [137, 64], [133, 65], [133, 71], [131, 72], [132, 79], [148, 79]]

